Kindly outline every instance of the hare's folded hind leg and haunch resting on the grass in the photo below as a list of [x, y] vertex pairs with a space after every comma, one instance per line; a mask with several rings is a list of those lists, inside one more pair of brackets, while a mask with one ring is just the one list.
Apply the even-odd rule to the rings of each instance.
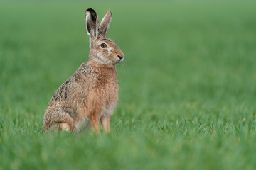
[[73, 132], [74, 120], [70, 114], [64, 111], [63, 108], [49, 108], [43, 118], [43, 133], [53, 127], [58, 127], [58, 130], [67, 130]]

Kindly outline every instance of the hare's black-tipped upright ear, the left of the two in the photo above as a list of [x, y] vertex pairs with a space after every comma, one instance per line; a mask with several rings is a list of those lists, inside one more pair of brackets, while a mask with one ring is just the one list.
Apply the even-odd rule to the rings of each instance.
[[92, 8], [88, 8], [85, 13], [85, 26], [87, 34], [92, 38], [97, 38], [99, 35], [99, 20], [97, 18], [97, 13]]

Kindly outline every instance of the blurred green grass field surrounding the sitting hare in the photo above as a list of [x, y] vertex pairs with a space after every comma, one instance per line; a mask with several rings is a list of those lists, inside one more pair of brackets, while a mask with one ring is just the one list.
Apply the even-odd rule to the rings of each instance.
[[[110, 134], [43, 135], [87, 61], [85, 10], [126, 55]], [[255, 1], [1, 1], [0, 169], [256, 169]]]

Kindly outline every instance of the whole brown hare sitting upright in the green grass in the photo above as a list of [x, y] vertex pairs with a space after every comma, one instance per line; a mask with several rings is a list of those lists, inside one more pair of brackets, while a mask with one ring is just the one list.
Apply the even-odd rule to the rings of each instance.
[[90, 36], [89, 61], [55, 91], [43, 118], [43, 132], [52, 128], [73, 132], [90, 120], [95, 133], [110, 132], [110, 115], [117, 105], [118, 84], [116, 64], [124, 61], [117, 44], [106, 38], [112, 13], [107, 11], [99, 26], [97, 13], [86, 10], [85, 26]]

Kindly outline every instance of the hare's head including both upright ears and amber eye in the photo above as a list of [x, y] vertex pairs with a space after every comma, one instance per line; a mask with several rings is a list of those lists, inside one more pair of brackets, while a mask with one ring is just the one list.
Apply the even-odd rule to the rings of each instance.
[[97, 13], [92, 8], [86, 10], [85, 26], [90, 36], [89, 60], [112, 65], [124, 60], [122, 50], [113, 40], [106, 38], [111, 18], [111, 11], [108, 10], [99, 26]]

